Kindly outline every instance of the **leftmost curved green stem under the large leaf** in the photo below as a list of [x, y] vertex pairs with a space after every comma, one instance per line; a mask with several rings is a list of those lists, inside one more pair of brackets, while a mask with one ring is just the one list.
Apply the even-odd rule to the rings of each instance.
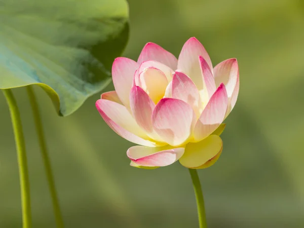
[[31, 228], [30, 187], [29, 187], [25, 142], [24, 142], [20, 113], [12, 91], [10, 89], [6, 89], [2, 91], [10, 109], [12, 125], [15, 135], [15, 143], [16, 143], [18, 166], [19, 166], [21, 202], [22, 202], [22, 224], [23, 224], [22, 227]]

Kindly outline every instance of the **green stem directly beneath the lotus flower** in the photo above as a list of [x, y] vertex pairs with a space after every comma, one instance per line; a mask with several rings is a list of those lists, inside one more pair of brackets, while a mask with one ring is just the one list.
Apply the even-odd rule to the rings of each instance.
[[200, 228], [207, 228], [204, 197], [200, 183], [200, 178], [196, 169], [189, 169], [189, 172], [192, 178], [194, 193], [197, 201]]

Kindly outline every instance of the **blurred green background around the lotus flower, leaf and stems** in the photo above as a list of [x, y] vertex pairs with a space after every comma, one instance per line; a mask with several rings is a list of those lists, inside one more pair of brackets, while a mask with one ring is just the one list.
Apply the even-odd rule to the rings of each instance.
[[[196, 36], [213, 64], [236, 57], [241, 87], [219, 161], [200, 170], [210, 228], [304, 227], [304, 2], [129, 0], [124, 56], [147, 42], [178, 56]], [[68, 10], [68, 9], [67, 9]], [[105, 91], [112, 90], [112, 84]], [[33, 227], [55, 227], [25, 89], [14, 90], [27, 143]], [[66, 227], [198, 227], [187, 169], [129, 166], [132, 143], [99, 116], [100, 94], [67, 118], [35, 87]], [[0, 227], [21, 227], [19, 177], [9, 111], [0, 96]]]

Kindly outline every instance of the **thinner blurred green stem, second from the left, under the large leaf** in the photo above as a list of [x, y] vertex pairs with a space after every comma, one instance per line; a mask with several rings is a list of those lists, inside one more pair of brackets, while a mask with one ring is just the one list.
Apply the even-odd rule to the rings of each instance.
[[55, 181], [54, 181], [54, 176], [52, 173], [50, 158], [48, 155], [46, 140], [44, 137], [44, 131], [43, 131], [43, 127], [42, 127], [39, 107], [37, 105], [37, 100], [36, 100], [32, 87], [27, 86], [26, 88], [27, 88], [27, 93], [28, 93], [30, 105], [31, 105], [32, 112], [33, 112], [35, 128], [36, 128], [37, 136], [39, 139], [39, 144], [40, 144], [40, 148], [41, 148], [41, 154], [42, 154], [42, 159], [43, 159], [43, 163], [45, 166], [47, 180], [49, 183], [49, 191], [50, 191], [51, 198], [52, 198], [53, 210], [54, 210], [55, 220], [56, 220], [56, 225], [57, 225], [56, 227], [63, 228], [64, 224], [63, 224], [63, 219], [62, 219], [62, 215], [61, 215], [61, 211], [60, 211], [58, 196], [56, 193]]

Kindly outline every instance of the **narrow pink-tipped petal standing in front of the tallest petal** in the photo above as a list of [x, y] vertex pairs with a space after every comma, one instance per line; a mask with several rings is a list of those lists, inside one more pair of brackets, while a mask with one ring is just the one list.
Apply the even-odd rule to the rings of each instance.
[[207, 90], [208, 98], [210, 98], [216, 90], [212, 70], [210, 69], [207, 61], [202, 56], [199, 57], [199, 60], [200, 60], [200, 64], [201, 64], [202, 74], [203, 74], [203, 82], [205, 85], [204, 89]]

